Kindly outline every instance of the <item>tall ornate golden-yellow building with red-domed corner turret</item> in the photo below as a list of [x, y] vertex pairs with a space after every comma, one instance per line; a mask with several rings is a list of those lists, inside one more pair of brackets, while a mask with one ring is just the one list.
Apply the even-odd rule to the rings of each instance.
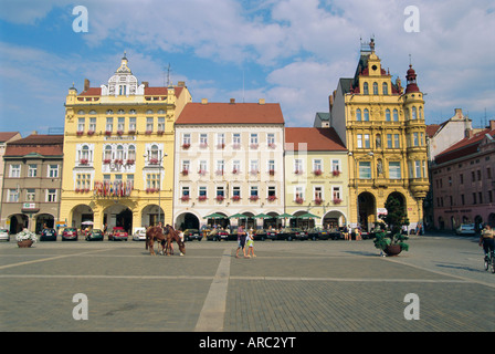
[[411, 227], [422, 221], [429, 190], [424, 101], [410, 65], [406, 92], [382, 69], [375, 42], [361, 46], [356, 74], [340, 79], [330, 95], [330, 126], [348, 148], [349, 219], [370, 229], [390, 195]]

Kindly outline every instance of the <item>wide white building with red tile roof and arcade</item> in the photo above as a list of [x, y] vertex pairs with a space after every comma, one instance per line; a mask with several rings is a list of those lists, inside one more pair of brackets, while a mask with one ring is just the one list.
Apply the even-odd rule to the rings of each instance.
[[[176, 122], [175, 226], [275, 226], [284, 212], [283, 165], [280, 104], [187, 104]], [[223, 219], [206, 218], [212, 214]], [[229, 219], [236, 214], [245, 218]], [[255, 218], [261, 214], [272, 218]]]

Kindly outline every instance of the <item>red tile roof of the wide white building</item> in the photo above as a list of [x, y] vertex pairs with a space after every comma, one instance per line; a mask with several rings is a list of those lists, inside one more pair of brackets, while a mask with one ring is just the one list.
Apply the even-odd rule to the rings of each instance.
[[176, 124], [284, 124], [278, 103], [188, 103]]

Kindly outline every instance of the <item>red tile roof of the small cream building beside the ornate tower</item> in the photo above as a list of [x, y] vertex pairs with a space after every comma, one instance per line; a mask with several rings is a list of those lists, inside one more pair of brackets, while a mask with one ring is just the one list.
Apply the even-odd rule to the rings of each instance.
[[[298, 150], [298, 143], [307, 143], [308, 152], [345, 152], [343, 140], [334, 128], [285, 128], [285, 148]], [[294, 144], [294, 145], [292, 145]]]

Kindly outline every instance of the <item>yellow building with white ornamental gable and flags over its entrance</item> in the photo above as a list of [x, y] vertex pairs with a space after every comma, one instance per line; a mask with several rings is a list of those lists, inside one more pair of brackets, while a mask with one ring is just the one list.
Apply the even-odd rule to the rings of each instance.
[[[172, 222], [175, 121], [191, 95], [183, 82], [138, 84], [126, 55], [106, 85], [69, 90], [60, 221], [108, 231]], [[86, 221], [86, 222], [85, 222]]]

